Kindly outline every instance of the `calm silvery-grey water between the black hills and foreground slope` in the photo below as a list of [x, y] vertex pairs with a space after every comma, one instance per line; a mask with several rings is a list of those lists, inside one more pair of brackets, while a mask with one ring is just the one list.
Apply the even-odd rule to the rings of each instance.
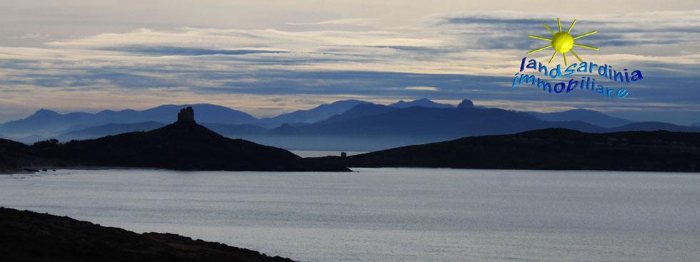
[[356, 170], [0, 175], [0, 205], [297, 261], [700, 261], [700, 174]]

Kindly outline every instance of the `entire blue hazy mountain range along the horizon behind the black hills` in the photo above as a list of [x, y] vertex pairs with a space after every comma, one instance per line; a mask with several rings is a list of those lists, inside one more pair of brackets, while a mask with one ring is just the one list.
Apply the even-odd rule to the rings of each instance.
[[[148, 131], [174, 121], [178, 108], [163, 105], [149, 110], [105, 110], [95, 114], [58, 114], [39, 110], [23, 120], [0, 125], [6, 137], [32, 143], [54, 137], [83, 140], [122, 132]], [[632, 122], [594, 110], [516, 112], [474, 107], [463, 100], [457, 107], [419, 99], [379, 105], [342, 100], [277, 117], [256, 119], [218, 105], [193, 105], [197, 120], [226, 137], [295, 150], [382, 150], [404, 145], [451, 140], [474, 135], [501, 135], [560, 127], [584, 132], [669, 130], [700, 132], [663, 122]]]

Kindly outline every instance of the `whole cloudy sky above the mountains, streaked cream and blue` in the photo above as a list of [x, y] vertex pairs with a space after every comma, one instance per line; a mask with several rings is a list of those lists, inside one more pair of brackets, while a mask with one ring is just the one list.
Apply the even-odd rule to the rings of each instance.
[[[574, 48], [584, 61], [644, 80], [606, 82], [624, 99], [511, 88], [521, 58], [544, 46], [527, 35], [547, 36], [542, 23], [558, 17], [565, 29], [577, 19], [574, 35], [598, 31], [576, 40], [601, 48]], [[689, 125], [700, 122], [698, 43], [699, 1], [0, 0], [0, 122], [39, 108], [213, 103], [267, 117], [344, 99], [469, 98]]]

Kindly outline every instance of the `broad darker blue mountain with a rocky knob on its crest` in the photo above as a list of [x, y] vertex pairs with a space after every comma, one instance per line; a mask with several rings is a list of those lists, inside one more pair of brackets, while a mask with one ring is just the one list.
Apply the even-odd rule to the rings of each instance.
[[[355, 111], [362, 114], [355, 115]], [[369, 104], [357, 105], [346, 114], [326, 121], [311, 125], [289, 125], [277, 129], [274, 135], [244, 138], [264, 145], [295, 150], [371, 151], [549, 127], [585, 132], [606, 130], [581, 121], [550, 122], [525, 112], [494, 108], [391, 108]]]

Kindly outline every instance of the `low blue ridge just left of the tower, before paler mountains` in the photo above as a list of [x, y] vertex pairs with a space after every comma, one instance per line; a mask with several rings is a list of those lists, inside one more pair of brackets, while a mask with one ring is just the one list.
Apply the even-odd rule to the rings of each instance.
[[88, 127], [84, 130], [66, 132], [57, 136], [56, 139], [59, 141], [85, 140], [97, 137], [106, 137], [108, 135], [119, 135], [126, 132], [149, 131], [164, 126], [164, 123], [154, 121], [133, 124], [110, 123], [106, 125]]

